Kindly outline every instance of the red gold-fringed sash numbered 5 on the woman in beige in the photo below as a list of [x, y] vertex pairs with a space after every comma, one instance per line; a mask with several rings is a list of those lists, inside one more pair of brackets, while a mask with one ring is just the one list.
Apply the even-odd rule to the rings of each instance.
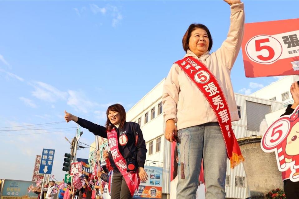
[[224, 93], [215, 76], [199, 60], [189, 56], [176, 62], [210, 103], [224, 138], [230, 167], [244, 161], [232, 130], [232, 121]]

